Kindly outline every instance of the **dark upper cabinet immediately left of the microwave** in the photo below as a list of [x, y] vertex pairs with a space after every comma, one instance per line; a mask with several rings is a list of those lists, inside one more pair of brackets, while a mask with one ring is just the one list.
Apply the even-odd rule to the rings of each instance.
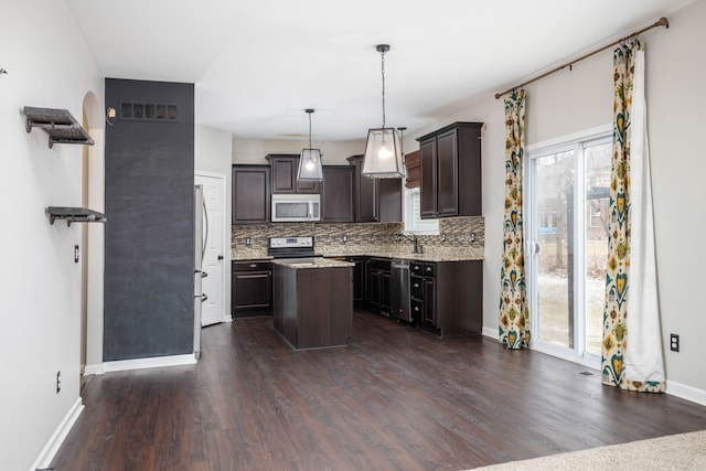
[[267, 224], [270, 167], [233, 165], [233, 224]]

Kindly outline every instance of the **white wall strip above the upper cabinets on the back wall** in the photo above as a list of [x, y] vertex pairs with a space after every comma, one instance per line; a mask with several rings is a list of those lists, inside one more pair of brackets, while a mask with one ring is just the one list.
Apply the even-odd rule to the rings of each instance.
[[[345, 160], [351, 156], [365, 152], [365, 139], [353, 141], [317, 141], [311, 146], [321, 149], [324, 165], [347, 165]], [[300, 140], [259, 140], [233, 139], [233, 163], [267, 163], [268, 153], [301, 153], [309, 141]]]

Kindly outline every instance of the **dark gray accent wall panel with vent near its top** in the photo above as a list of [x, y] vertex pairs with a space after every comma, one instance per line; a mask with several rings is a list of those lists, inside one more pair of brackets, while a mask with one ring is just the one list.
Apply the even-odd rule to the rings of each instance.
[[[194, 86], [106, 79], [104, 361], [193, 352]], [[121, 119], [125, 103], [176, 119]]]

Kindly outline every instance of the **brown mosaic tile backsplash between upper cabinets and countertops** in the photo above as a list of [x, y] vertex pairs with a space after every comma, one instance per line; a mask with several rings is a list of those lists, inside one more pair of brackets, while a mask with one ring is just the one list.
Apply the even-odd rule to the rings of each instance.
[[[272, 223], [232, 226], [233, 259], [256, 259], [267, 256], [269, 237], [313, 236], [318, 254], [339, 256], [354, 254], [409, 254], [411, 240], [396, 237], [403, 223]], [[345, 242], [344, 242], [345, 238]], [[439, 220], [439, 235], [420, 235], [426, 254], [483, 258], [485, 222], [478, 217], [445, 217]], [[248, 245], [249, 242], [249, 245]]]

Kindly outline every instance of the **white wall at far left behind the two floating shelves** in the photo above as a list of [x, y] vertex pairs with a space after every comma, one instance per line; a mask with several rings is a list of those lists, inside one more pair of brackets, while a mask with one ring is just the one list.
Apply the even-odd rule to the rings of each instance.
[[[46, 206], [81, 206], [82, 148], [47, 147], [24, 130], [23, 106], [66, 108], [81, 122], [84, 96], [103, 107], [103, 77], [64, 1], [13, 2], [0, 28], [0, 459], [26, 470], [79, 404], [81, 225], [50, 225]], [[55, 393], [56, 372], [62, 390]]]

